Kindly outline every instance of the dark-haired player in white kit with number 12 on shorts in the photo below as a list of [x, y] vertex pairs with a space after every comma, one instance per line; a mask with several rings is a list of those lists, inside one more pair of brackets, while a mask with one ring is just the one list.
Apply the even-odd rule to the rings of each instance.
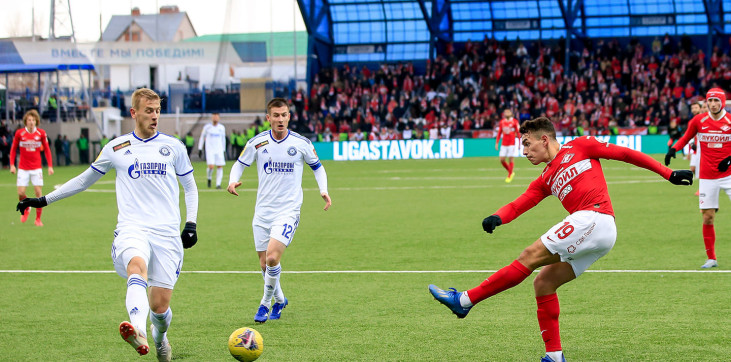
[[[327, 192], [327, 174], [309, 139], [287, 129], [289, 105], [282, 98], [267, 104], [267, 120], [271, 131], [251, 138], [231, 168], [227, 191], [238, 196], [241, 175], [254, 162], [259, 173], [259, 189], [252, 229], [259, 264], [264, 274], [264, 296], [254, 321], [279, 319], [289, 301], [279, 283], [284, 250], [294, 238], [302, 206], [302, 169], [306, 163], [315, 174], [325, 211], [332, 201]], [[272, 305], [274, 297], [274, 305]], [[270, 313], [271, 310], [271, 313]]]

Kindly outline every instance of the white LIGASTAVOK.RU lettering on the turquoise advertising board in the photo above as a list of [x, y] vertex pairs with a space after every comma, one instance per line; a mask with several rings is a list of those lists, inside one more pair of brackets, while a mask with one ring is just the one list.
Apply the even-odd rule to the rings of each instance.
[[463, 139], [333, 142], [335, 161], [464, 157]]

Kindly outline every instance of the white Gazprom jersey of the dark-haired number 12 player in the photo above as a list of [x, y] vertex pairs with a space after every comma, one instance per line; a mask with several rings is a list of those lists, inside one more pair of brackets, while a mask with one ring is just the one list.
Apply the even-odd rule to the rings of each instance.
[[259, 133], [246, 143], [238, 158], [244, 166], [257, 164], [259, 189], [254, 217], [272, 221], [279, 215], [299, 213], [302, 206], [302, 169], [322, 166], [309, 139], [288, 131], [277, 141], [271, 131]]

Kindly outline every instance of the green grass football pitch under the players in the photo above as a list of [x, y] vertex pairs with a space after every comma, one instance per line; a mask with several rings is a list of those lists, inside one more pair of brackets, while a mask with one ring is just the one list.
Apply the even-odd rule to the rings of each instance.
[[[305, 170], [300, 227], [282, 259], [290, 305], [281, 320], [264, 325], [253, 323], [262, 294], [251, 240], [256, 171], [244, 172], [236, 198], [207, 189], [205, 165], [196, 163], [199, 242], [186, 251], [173, 294], [174, 360], [232, 361], [226, 341], [243, 326], [263, 335], [261, 361], [539, 360], [532, 277], [464, 320], [427, 291], [430, 283], [459, 290], [479, 284], [566, 216], [549, 197], [494, 234], [482, 231], [482, 219], [542, 170], [516, 162], [511, 184], [496, 158], [325, 162], [333, 199], [327, 212]], [[716, 218], [720, 267], [699, 272], [706, 257], [697, 185], [674, 186], [621, 162], [602, 165], [618, 238], [592, 272], [559, 289], [567, 359], [728, 360], [728, 199], [721, 197]], [[44, 176], [44, 191], [83, 169], [57, 167]], [[139, 358], [117, 332], [127, 315], [125, 282], [109, 256], [114, 177], [46, 208], [45, 227], [38, 228], [33, 213], [19, 222], [15, 176], [0, 173], [1, 361]], [[154, 350], [139, 359], [154, 360]]]

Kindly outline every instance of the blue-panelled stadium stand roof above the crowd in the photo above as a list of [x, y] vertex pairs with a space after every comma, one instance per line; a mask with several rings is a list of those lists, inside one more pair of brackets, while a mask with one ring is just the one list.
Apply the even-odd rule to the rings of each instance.
[[[731, 33], [731, 0], [298, 0], [308, 74], [432, 59], [449, 42]], [[312, 69], [309, 69], [312, 68]], [[309, 77], [309, 76], [308, 76]]]

